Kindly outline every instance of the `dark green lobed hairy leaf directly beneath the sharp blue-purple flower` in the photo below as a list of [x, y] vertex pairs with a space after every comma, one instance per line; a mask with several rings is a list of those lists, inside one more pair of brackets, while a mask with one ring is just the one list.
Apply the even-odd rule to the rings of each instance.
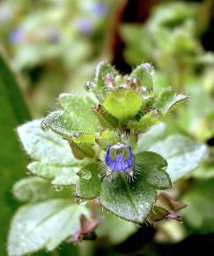
[[156, 202], [156, 189], [171, 187], [171, 181], [165, 172], [166, 161], [159, 154], [144, 152], [136, 158], [136, 179], [129, 182], [121, 173], [111, 181], [104, 178], [100, 204], [114, 215], [142, 223]]

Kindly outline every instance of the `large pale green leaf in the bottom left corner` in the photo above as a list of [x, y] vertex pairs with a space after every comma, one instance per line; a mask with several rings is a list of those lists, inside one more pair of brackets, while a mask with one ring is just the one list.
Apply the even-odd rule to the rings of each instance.
[[80, 215], [88, 216], [88, 210], [72, 205], [70, 200], [48, 200], [19, 208], [11, 222], [9, 256], [54, 250], [80, 229]]

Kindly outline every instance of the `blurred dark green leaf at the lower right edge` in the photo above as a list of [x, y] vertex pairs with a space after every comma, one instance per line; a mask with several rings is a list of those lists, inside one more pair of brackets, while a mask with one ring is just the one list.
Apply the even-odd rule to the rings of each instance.
[[188, 204], [182, 214], [184, 221], [200, 233], [210, 233], [214, 230], [213, 182], [214, 179], [211, 178], [191, 185], [181, 199]]

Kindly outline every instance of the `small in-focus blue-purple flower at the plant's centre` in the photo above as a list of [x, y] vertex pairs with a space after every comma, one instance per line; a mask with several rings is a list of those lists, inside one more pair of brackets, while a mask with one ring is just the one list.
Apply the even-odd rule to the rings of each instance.
[[134, 156], [131, 147], [122, 143], [107, 147], [105, 162], [111, 173], [114, 171], [126, 172], [129, 176], [132, 176]]

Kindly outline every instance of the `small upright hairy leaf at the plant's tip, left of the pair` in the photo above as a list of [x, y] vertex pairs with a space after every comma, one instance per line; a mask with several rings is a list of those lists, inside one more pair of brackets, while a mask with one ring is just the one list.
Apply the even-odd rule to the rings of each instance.
[[97, 96], [100, 103], [104, 102], [107, 94], [106, 76], [110, 74], [113, 78], [119, 75], [111, 64], [100, 62], [95, 69], [95, 86], [92, 92]]

